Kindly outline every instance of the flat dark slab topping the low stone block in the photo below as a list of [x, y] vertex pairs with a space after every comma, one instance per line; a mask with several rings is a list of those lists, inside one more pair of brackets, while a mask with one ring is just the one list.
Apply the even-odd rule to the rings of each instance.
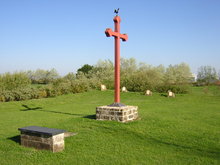
[[62, 129], [38, 127], [38, 126], [23, 127], [23, 128], [18, 128], [18, 130], [21, 132], [44, 134], [44, 135], [50, 135], [50, 136], [67, 132], [66, 130], [62, 130]]

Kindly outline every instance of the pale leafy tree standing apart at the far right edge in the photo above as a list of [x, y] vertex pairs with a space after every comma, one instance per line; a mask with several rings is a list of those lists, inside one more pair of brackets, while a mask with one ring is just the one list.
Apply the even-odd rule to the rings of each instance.
[[209, 85], [218, 79], [217, 72], [214, 67], [201, 66], [198, 69], [197, 81], [205, 85]]

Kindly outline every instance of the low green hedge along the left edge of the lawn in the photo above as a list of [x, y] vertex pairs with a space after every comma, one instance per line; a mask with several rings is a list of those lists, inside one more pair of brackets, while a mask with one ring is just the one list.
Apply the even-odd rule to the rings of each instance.
[[0, 102], [55, 97], [68, 93], [81, 93], [88, 91], [90, 85], [94, 87], [96, 84], [96, 81], [88, 81], [88, 79], [76, 79], [72, 81], [58, 80], [54, 84], [38, 88], [27, 86], [13, 90], [1, 90]]

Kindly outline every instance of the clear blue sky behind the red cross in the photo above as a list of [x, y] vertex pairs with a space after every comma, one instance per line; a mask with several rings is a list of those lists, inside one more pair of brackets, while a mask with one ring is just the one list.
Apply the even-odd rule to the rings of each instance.
[[121, 56], [153, 66], [186, 62], [220, 70], [220, 0], [0, 0], [0, 73], [55, 68], [61, 75], [114, 59], [114, 9]]

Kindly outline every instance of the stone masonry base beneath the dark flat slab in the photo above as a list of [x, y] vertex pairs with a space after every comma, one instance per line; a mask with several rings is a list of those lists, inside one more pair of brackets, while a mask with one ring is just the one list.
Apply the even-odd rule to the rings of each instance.
[[64, 149], [64, 133], [57, 135], [45, 135], [21, 132], [21, 145], [40, 150], [60, 152]]

